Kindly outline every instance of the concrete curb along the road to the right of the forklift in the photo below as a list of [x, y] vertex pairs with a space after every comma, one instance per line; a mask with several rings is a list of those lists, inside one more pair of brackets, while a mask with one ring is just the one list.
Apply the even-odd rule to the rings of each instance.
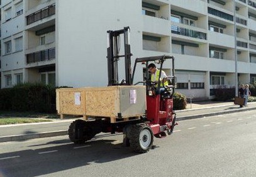
[[248, 107], [246, 109], [226, 110], [226, 111], [221, 111], [221, 112], [211, 112], [211, 113], [206, 113], [206, 114], [197, 114], [197, 115], [190, 115], [190, 116], [184, 116], [184, 117], [177, 117], [177, 121], [198, 119], [198, 118], [210, 117], [210, 116], [221, 115], [221, 114], [230, 114], [230, 113], [234, 113], [234, 112], [242, 112], [242, 111], [253, 110], [253, 109], [255, 109], [255, 107]]

